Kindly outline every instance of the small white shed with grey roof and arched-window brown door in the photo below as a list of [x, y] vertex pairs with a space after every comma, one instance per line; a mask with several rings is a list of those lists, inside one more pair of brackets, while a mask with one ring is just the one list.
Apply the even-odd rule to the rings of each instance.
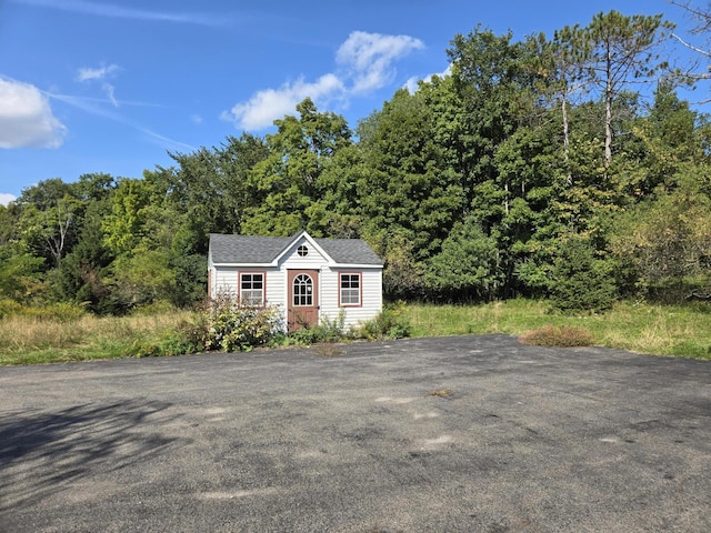
[[382, 261], [361, 239], [211, 234], [208, 293], [278, 305], [289, 331], [341, 311], [357, 325], [382, 310]]

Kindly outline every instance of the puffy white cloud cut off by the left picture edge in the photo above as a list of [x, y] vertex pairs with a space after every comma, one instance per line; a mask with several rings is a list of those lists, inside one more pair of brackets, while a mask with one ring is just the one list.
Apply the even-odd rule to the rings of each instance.
[[58, 148], [66, 133], [37, 87], [0, 78], [0, 148]]

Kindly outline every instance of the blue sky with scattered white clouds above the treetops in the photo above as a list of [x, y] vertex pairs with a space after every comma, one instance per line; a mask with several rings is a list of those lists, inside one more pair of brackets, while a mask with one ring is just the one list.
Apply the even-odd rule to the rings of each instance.
[[306, 97], [354, 128], [443, 72], [457, 33], [551, 34], [610, 9], [684, 23], [665, 0], [0, 0], [0, 203], [269, 133]]

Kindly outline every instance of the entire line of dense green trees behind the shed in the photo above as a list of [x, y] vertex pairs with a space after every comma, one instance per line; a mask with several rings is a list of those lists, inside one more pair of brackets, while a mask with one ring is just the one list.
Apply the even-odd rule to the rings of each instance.
[[49, 179], [0, 208], [0, 298], [121, 313], [204, 298], [210, 233], [362, 238], [389, 299], [711, 293], [711, 127], [662, 60], [673, 24], [599, 13], [552, 37], [482, 27], [450, 73], [351, 129], [310, 99], [141, 178]]

